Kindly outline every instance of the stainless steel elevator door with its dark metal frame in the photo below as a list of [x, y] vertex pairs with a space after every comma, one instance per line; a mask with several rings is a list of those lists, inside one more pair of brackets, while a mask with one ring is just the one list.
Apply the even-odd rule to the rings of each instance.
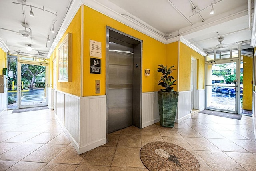
[[107, 134], [141, 124], [142, 40], [106, 28]]

